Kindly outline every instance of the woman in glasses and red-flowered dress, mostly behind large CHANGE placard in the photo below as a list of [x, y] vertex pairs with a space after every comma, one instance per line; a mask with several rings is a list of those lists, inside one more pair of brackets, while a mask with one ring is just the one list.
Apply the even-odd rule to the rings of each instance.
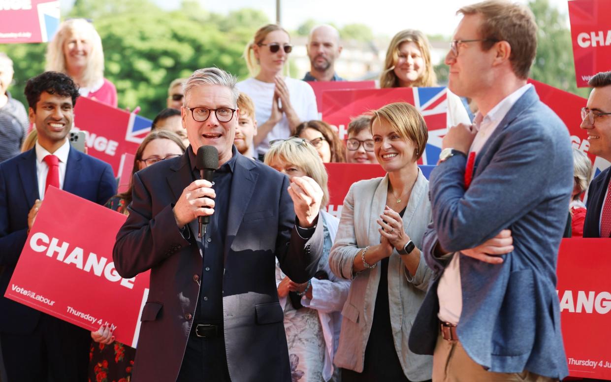
[[[185, 150], [186, 147], [181, 138], [177, 134], [172, 133], [172, 131], [152, 131], [144, 138], [136, 150], [134, 166], [131, 172], [132, 177], [130, 178], [128, 189], [123, 193], [113, 196], [108, 200], [105, 207], [124, 215], [129, 215], [127, 207], [131, 203], [133, 175], [137, 171], [152, 166], [158, 161], [183, 155]], [[101, 326], [98, 331], [91, 332], [91, 337], [93, 341], [90, 349], [89, 380], [101, 381], [106, 378], [108, 381], [129, 381], [134, 358], [136, 357], [136, 349], [123, 343], [115, 342], [112, 331], [108, 326]]]

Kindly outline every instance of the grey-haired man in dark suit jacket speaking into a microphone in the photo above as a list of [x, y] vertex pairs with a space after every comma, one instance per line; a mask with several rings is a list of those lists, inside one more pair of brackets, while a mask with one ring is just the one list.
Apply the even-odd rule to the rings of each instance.
[[[295, 282], [314, 275], [323, 192], [238, 153], [235, 83], [218, 68], [194, 72], [181, 108], [189, 149], [134, 175], [113, 258], [123, 277], [151, 270], [136, 382], [291, 378], [275, 258]], [[218, 150], [212, 182], [200, 179], [202, 146]]]

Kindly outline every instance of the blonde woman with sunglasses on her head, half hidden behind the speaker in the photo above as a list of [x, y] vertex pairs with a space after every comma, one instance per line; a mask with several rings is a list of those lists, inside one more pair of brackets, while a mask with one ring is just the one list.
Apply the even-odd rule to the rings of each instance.
[[282, 273], [276, 263], [276, 284], [280, 305], [284, 307], [284, 326], [293, 380], [302, 382], [338, 380], [333, 358], [337, 350], [342, 315], [350, 282], [340, 279], [329, 268], [329, 251], [337, 232], [338, 219], [324, 211], [329, 202], [327, 172], [318, 153], [303, 138], [292, 137], [271, 142], [265, 164], [288, 177], [313, 178], [323, 189], [318, 224], [323, 224], [323, 255], [315, 276], [296, 284]]

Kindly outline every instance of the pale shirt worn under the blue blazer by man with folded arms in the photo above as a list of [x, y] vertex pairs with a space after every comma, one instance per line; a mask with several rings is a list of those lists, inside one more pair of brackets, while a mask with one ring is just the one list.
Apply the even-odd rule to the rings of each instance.
[[[505, 118], [507, 112], [530, 87], [532, 87], [532, 84], [526, 84], [511, 93], [497, 103], [486, 116], [483, 116], [480, 112], [477, 113], [473, 120], [473, 127], [477, 130], [477, 134], [471, 144], [469, 153], [475, 152], [477, 156], [488, 138], [499, 126], [499, 123]], [[439, 314], [437, 314], [437, 317], [439, 317], [439, 320], [453, 325], [458, 325], [458, 320], [463, 311], [463, 290], [461, 289], [460, 256], [458, 253], [456, 252], [453, 255], [437, 286], [437, 298], [439, 299]]]

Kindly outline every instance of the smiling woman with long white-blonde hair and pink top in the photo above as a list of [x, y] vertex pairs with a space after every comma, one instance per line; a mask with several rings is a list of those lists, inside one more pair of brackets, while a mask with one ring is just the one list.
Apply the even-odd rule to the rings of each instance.
[[46, 49], [46, 69], [65, 73], [83, 97], [117, 107], [117, 89], [104, 78], [100, 35], [84, 18], [64, 21]]

